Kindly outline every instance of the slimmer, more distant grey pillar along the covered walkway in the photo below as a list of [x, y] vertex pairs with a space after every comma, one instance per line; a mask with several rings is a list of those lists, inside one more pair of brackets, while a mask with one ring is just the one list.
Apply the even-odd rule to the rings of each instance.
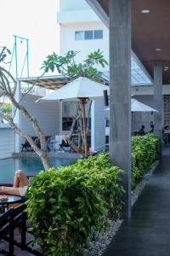
[[[154, 108], [158, 111], [154, 113], [154, 132], [156, 136], [162, 137], [163, 128], [163, 95], [162, 95], [162, 62], [154, 62]], [[161, 143], [160, 143], [161, 157]]]

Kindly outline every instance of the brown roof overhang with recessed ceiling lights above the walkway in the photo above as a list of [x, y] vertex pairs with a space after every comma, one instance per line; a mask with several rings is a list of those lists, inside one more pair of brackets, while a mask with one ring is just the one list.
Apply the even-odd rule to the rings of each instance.
[[[109, 27], [109, 0], [86, 0]], [[150, 10], [143, 14], [142, 10]], [[153, 62], [162, 61], [163, 84], [170, 84], [170, 1], [132, 0], [132, 49], [153, 78]], [[156, 50], [161, 49], [161, 50]], [[165, 68], [169, 67], [169, 68]]]

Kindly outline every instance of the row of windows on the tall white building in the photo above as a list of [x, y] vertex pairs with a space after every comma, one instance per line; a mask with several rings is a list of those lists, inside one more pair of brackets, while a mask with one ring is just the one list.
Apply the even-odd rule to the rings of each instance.
[[75, 40], [92, 40], [102, 38], [103, 30], [85, 30], [75, 32]]

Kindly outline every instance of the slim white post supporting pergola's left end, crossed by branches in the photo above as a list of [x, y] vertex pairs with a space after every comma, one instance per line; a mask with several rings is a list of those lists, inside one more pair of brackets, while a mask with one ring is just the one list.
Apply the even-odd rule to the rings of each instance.
[[[17, 81], [17, 87], [14, 95], [17, 102], [20, 101], [21, 92], [20, 92], [20, 81]], [[14, 114], [14, 123], [20, 127], [20, 111], [13, 109]], [[15, 153], [20, 153], [20, 136], [15, 133], [15, 147], [14, 147]]]

